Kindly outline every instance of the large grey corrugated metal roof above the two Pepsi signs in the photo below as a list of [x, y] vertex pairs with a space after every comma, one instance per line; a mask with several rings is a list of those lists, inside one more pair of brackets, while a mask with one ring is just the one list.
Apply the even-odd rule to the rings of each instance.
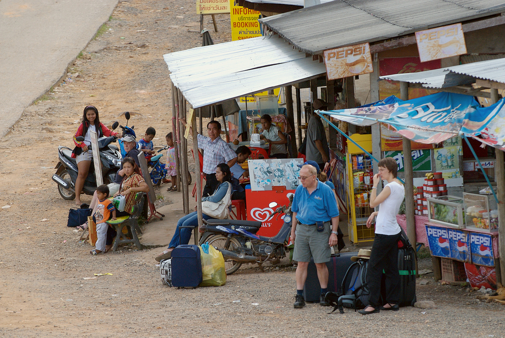
[[503, 0], [335, 0], [260, 21], [300, 51], [321, 54], [501, 12]]

